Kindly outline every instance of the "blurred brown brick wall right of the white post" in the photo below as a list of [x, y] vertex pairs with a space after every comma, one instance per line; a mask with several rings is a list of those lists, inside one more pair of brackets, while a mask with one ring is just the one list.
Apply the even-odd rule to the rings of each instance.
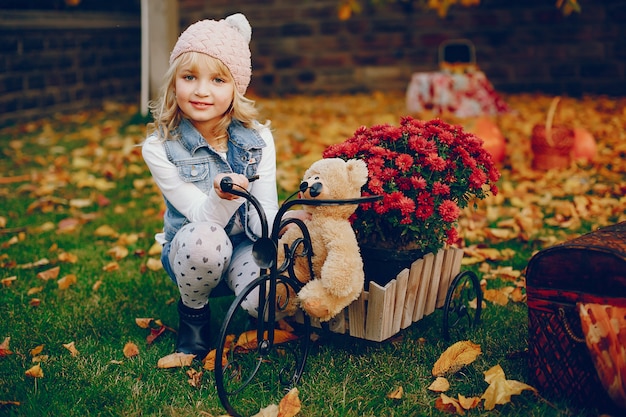
[[553, 0], [481, 0], [445, 19], [387, 5], [340, 21], [337, 0], [180, 0], [180, 17], [184, 29], [246, 14], [260, 94], [405, 89], [412, 72], [437, 69], [439, 44], [455, 38], [475, 44], [501, 91], [626, 94], [626, 2], [579, 3], [583, 13], [569, 17]]

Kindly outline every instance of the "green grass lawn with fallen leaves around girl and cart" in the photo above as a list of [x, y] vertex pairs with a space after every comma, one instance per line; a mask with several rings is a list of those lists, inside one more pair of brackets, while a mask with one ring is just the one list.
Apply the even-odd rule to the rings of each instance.
[[[201, 387], [193, 388], [187, 383], [186, 368], [158, 369], [159, 358], [173, 351], [175, 335], [166, 332], [148, 345], [147, 330], [135, 324], [135, 318], [154, 317], [176, 327], [172, 301], [177, 291], [163, 271], [145, 268], [153, 235], [161, 227], [160, 197], [150, 182], [143, 187], [135, 183], [149, 177], [138, 148], [116, 145], [126, 139], [139, 143], [143, 130], [128, 123], [130, 118], [118, 116], [116, 121], [110, 117], [98, 113], [0, 132], [3, 177], [32, 175], [29, 181], [0, 185], [0, 216], [6, 219], [6, 228], [0, 229], [0, 278], [17, 278], [12, 285], [0, 287], [0, 342], [10, 337], [13, 352], [0, 357], [0, 404], [19, 402], [0, 405], [0, 415], [221, 415], [224, 410], [217, 399], [213, 375], [206, 372]], [[79, 157], [86, 158], [89, 165], [73, 165]], [[77, 178], [85, 176], [106, 180], [114, 187], [81, 187]], [[99, 195], [111, 203], [98, 206], [95, 201]], [[44, 197], [65, 200], [45, 206], [45, 210], [28, 210]], [[72, 208], [69, 201], [77, 198], [94, 203]], [[80, 219], [81, 226], [59, 233], [59, 222], [68, 218]], [[55, 227], [42, 230], [48, 222]], [[119, 270], [112, 272], [103, 267], [113, 261], [107, 251], [116, 238], [96, 236], [95, 230], [103, 225], [119, 234], [137, 236], [135, 243], [127, 245], [129, 256], [120, 259]], [[14, 237], [19, 238], [17, 243], [11, 243]], [[507, 264], [519, 270], [538, 249], [536, 243], [522, 241], [494, 246], [514, 249], [516, 255]], [[61, 252], [76, 255], [78, 261], [59, 261]], [[50, 261], [48, 265], [23, 267], [44, 258]], [[56, 280], [37, 278], [38, 272], [56, 265], [61, 268], [59, 277], [75, 274], [77, 283], [60, 290]], [[94, 290], [97, 281], [102, 284]], [[28, 295], [33, 287], [43, 288]], [[30, 305], [33, 298], [40, 299], [39, 306]], [[219, 302], [225, 309], [229, 300]], [[449, 377], [451, 389], [447, 394], [480, 396], [487, 387], [483, 372], [497, 364], [509, 379], [528, 381], [526, 321], [524, 304], [500, 307], [488, 303], [480, 327], [465, 335], [480, 344], [483, 353]], [[433, 381], [434, 362], [451, 343], [442, 340], [441, 323], [442, 312], [437, 310], [383, 343], [323, 335], [313, 346], [299, 385], [301, 415], [446, 415], [434, 406], [438, 395], [427, 389]], [[72, 341], [80, 352], [75, 357], [63, 347]], [[137, 357], [124, 357], [122, 349], [127, 342], [139, 346]], [[44, 345], [41, 354], [46, 355], [41, 363], [44, 377], [29, 378], [25, 371], [34, 365], [30, 351], [40, 345]], [[404, 389], [402, 399], [387, 398], [398, 386]], [[256, 404], [257, 409], [268, 405], [262, 401]], [[468, 415], [581, 413], [566, 401], [548, 402], [526, 391], [493, 411], [479, 407]]]

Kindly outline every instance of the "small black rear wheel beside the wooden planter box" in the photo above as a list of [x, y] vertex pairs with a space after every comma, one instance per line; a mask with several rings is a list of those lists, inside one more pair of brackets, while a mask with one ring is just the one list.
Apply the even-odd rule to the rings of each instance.
[[[472, 316], [470, 303], [476, 299], [476, 310]], [[451, 331], [459, 336], [462, 332], [478, 326], [483, 293], [478, 277], [472, 271], [463, 271], [450, 283], [443, 306], [443, 338], [450, 340]]]

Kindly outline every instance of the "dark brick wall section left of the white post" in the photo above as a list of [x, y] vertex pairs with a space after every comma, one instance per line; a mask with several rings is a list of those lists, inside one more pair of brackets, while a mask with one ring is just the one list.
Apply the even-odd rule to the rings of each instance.
[[0, 126], [139, 101], [139, 15], [0, 13]]

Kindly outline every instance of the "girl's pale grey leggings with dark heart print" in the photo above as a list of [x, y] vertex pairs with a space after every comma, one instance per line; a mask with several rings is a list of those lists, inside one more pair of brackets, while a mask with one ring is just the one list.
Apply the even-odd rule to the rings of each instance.
[[[224, 279], [237, 295], [259, 276], [259, 266], [252, 256], [252, 242], [244, 239], [233, 248], [224, 229], [210, 222], [188, 223], [181, 227], [170, 242], [167, 261], [182, 303], [190, 308], [206, 305], [211, 291]], [[257, 297], [257, 292], [253, 291], [242, 304], [253, 317], [257, 317]]]

